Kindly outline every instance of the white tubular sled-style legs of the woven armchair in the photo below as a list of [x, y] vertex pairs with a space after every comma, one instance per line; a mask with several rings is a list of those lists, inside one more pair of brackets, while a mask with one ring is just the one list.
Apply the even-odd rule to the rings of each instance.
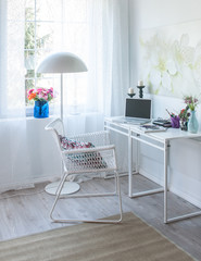
[[120, 204], [120, 219], [116, 219], [116, 220], [59, 220], [59, 219], [54, 219], [53, 217], [53, 212], [54, 212], [54, 209], [55, 209], [55, 206], [58, 203], [58, 200], [60, 198], [60, 195], [61, 195], [61, 191], [62, 191], [62, 188], [63, 188], [63, 185], [64, 185], [64, 182], [67, 177], [67, 174], [63, 176], [60, 185], [59, 185], [59, 191], [58, 191], [58, 195], [55, 197], [55, 200], [54, 200], [54, 203], [52, 206], [52, 209], [50, 211], [50, 219], [55, 222], [55, 223], [120, 223], [122, 222], [122, 217], [123, 217], [123, 210], [122, 210], [122, 196], [121, 196], [121, 185], [120, 185], [120, 177], [118, 177], [118, 173], [115, 171], [114, 172], [115, 174], [115, 192], [108, 192], [108, 194], [93, 194], [93, 195], [74, 195], [74, 196], [71, 196], [71, 197], [67, 197], [66, 198], [76, 198], [76, 197], [104, 197], [104, 196], [118, 196], [118, 204]]

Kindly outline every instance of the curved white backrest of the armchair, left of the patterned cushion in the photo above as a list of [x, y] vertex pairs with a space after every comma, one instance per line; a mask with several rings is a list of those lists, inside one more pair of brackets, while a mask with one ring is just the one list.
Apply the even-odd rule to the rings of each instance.
[[64, 130], [64, 126], [63, 126], [63, 122], [61, 119], [55, 119], [54, 121], [52, 121], [51, 123], [49, 123], [46, 127], [45, 127], [46, 130], [51, 130], [55, 141], [56, 141], [56, 145], [60, 149], [60, 151], [62, 150], [61, 148], [61, 142], [60, 142], [60, 135], [61, 136], [64, 136], [65, 134], [65, 130]]

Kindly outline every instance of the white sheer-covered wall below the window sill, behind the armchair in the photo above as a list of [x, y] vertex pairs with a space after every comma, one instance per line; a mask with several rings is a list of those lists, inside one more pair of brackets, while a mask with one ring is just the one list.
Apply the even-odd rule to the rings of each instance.
[[[15, 129], [23, 120], [0, 120], [0, 192], [61, 176], [59, 150], [51, 134], [45, 130], [51, 121], [53, 117], [27, 117], [24, 136], [18, 138]], [[103, 129], [103, 115], [71, 115], [65, 123], [66, 136], [90, 133]]]

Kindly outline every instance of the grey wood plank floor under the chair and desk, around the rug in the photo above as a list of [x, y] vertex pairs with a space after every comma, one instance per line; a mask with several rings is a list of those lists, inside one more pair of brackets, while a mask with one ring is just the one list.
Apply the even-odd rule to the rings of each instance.
[[[81, 183], [81, 191], [97, 192], [113, 188], [112, 179], [92, 179]], [[138, 189], [155, 188], [155, 184], [137, 175], [135, 186]], [[52, 223], [49, 210], [53, 196], [43, 191], [45, 184], [34, 189], [9, 191], [0, 195], [0, 240], [39, 233], [66, 224]], [[127, 177], [121, 177], [123, 211], [134, 212], [151, 226], [160, 231], [169, 240], [201, 260], [201, 216], [163, 223], [163, 194], [130, 199], [127, 196]], [[15, 196], [18, 194], [17, 196]], [[196, 208], [177, 196], [168, 192], [168, 215], [188, 213]], [[62, 199], [56, 209], [59, 216], [103, 217], [118, 213], [117, 198]]]

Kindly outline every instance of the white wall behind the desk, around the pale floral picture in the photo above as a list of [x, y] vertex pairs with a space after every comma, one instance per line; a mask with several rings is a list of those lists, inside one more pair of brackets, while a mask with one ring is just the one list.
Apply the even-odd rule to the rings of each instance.
[[[201, 0], [129, 0], [130, 86], [138, 80], [138, 37], [141, 29], [201, 20]], [[200, 34], [200, 32], [198, 32]], [[165, 108], [179, 111], [181, 100], [153, 96], [153, 116], [166, 117]], [[201, 130], [201, 105], [197, 112]], [[169, 189], [201, 207], [201, 144], [178, 140], [171, 145]], [[141, 172], [162, 184], [163, 157], [155, 149], [141, 148]]]

